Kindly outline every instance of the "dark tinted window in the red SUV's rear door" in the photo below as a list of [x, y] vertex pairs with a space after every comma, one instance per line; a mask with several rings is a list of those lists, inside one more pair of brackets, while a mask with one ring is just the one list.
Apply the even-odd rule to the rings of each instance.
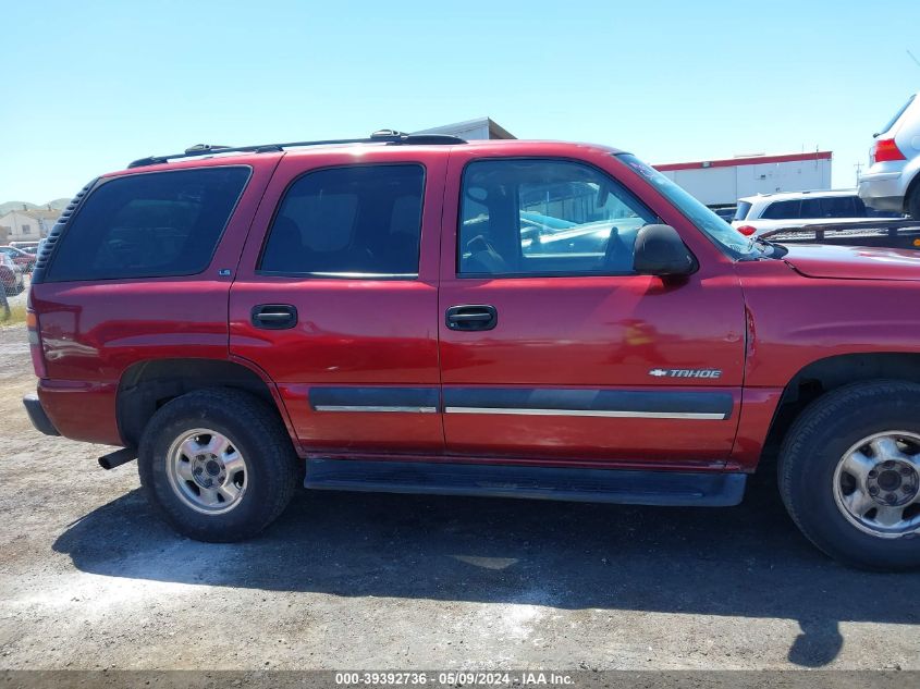
[[259, 270], [414, 278], [424, 188], [425, 170], [417, 164], [307, 173], [281, 201]]

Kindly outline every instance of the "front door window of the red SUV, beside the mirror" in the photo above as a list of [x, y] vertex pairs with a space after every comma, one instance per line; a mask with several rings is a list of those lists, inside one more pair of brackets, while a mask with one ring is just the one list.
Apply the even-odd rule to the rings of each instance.
[[564, 160], [481, 160], [464, 172], [461, 274], [629, 273], [657, 222], [620, 184]]

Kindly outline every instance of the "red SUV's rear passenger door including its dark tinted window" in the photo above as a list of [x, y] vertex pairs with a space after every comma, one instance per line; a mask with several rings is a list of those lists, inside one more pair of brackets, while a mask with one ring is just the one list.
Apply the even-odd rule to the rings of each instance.
[[302, 451], [443, 451], [444, 174], [424, 148], [279, 164], [231, 288], [230, 348], [278, 384]]

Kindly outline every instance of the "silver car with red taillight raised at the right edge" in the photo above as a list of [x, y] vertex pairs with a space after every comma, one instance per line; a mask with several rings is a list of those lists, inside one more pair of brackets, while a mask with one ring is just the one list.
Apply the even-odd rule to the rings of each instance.
[[920, 220], [918, 94], [872, 136], [875, 143], [869, 152], [869, 170], [859, 179], [859, 197], [872, 208], [905, 212]]

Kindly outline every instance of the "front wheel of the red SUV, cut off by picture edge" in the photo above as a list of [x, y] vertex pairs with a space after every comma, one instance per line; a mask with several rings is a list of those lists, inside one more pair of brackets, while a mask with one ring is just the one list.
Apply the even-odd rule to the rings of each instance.
[[[863, 569], [920, 567], [920, 497], [916, 496], [920, 487], [918, 408], [920, 385], [916, 383], [854, 383], [812, 403], [787, 433], [778, 465], [783, 502], [802, 533], [831, 557]], [[897, 454], [875, 450], [873, 443], [885, 439], [895, 441], [884, 447], [893, 446]], [[918, 452], [916, 462], [913, 452]], [[860, 460], [855, 462], [860, 473], [849, 472], [854, 465], [847, 463], [848, 457]], [[884, 465], [891, 464], [891, 471], [882, 464], [888, 457], [897, 457]], [[915, 464], [913, 473], [908, 475]], [[874, 479], [870, 478], [870, 468]], [[895, 489], [891, 489], [891, 481], [895, 480], [890, 478], [892, 472], [904, 481]], [[882, 479], [886, 479], [887, 488], [878, 492]], [[870, 494], [873, 488], [878, 497]], [[911, 504], [890, 507], [881, 500]], [[898, 514], [900, 520], [891, 527], [875, 521], [884, 514]]]

